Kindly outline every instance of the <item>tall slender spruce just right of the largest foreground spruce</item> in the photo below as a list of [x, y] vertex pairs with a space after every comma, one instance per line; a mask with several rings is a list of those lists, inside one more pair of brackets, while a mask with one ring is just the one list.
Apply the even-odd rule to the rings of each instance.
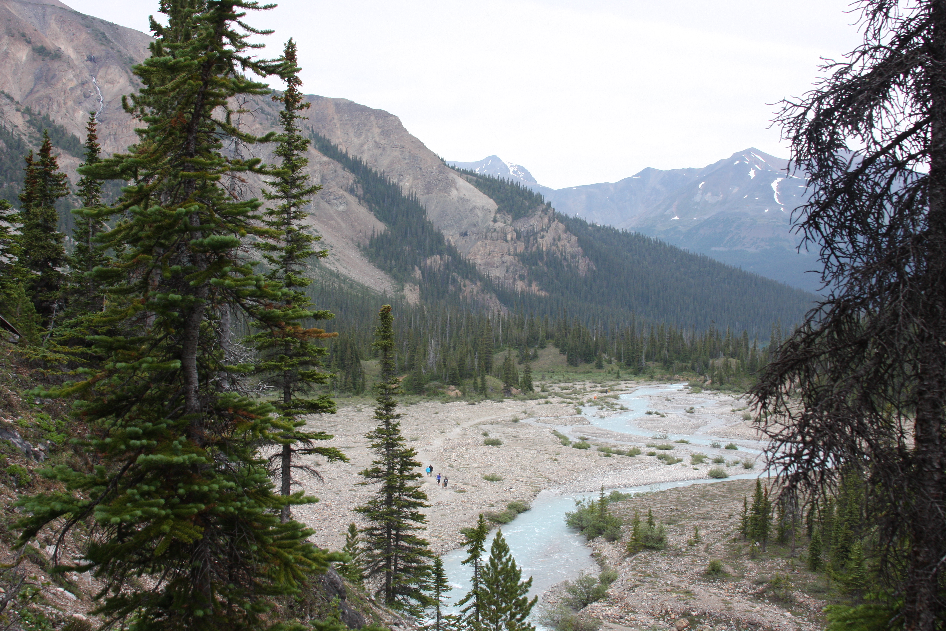
[[308, 261], [323, 257], [326, 252], [312, 248], [312, 243], [321, 237], [308, 234], [305, 227], [309, 216], [306, 208], [322, 187], [311, 184], [305, 170], [309, 141], [299, 132], [299, 121], [305, 120], [300, 112], [306, 110], [309, 103], [300, 90], [302, 80], [299, 79], [296, 44], [291, 39], [286, 43], [282, 62], [286, 91], [282, 96], [272, 97], [283, 105], [279, 113], [282, 134], [275, 150], [280, 165], [275, 177], [267, 181], [270, 189], [263, 193], [267, 201], [278, 203], [264, 213], [264, 223], [272, 231], [270, 237], [256, 244], [270, 264], [268, 278], [282, 289], [276, 300], [254, 311], [255, 326], [263, 331], [254, 335], [252, 341], [259, 356], [255, 372], [272, 383], [279, 396], [273, 402], [279, 416], [272, 421], [272, 436], [280, 449], [271, 462], [278, 471], [280, 494], [287, 498], [281, 514], [285, 522], [289, 521], [290, 504], [295, 501], [292, 498], [302, 497], [301, 493], [292, 494], [292, 471], [304, 470], [318, 475], [310, 465], [297, 462], [297, 456], [316, 454], [330, 462], [348, 459], [336, 447], [316, 447], [317, 441], [331, 440], [333, 436], [305, 429], [307, 421], [303, 418], [306, 414], [335, 413], [335, 401], [328, 394], [315, 398], [304, 398], [300, 394], [310, 394], [313, 386], [324, 384], [332, 377], [319, 370], [322, 365], [319, 358], [326, 351], [318, 342], [336, 337], [338, 333], [325, 333], [321, 328], [302, 325], [303, 320], [328, 320], [334, 315], [325, 310], [313, 310], [305, 291], [311, 283], [306, 275]]

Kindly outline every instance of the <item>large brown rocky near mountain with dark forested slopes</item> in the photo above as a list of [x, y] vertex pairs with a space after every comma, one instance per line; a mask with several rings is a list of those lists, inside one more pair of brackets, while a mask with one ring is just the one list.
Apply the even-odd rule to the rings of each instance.
[[[149, 54], [151, 40], [55, 0], [0, 0], [0, 15], [7, 23], [0, 59], [8, 68], [0, 75], [0, 194], [15, 204], [22, 156], [44, 129], [73, 183], [90, 110], [98, 112], [104, 151], [135, 141], [120, 99], [136, 89], [130, 66]], [[633, 313], [655, 323], [715, 322], [763, 333], [777, 320], [797, 322], [812, 300], [705, 256], [556, 212], [528, 170], [495, 156], [473, 169], [451, 167], [394, 114], [344, 98], [307, 100], [309, 170], [322, 184], [310, 222], [329, 250], [317, 272], [326, 278], [415, 305], [452, 301], [611, 322]], [[246, 109], [236, 120], [246, 131], [277, 128], [269, 97]], [[245, 150], [272, 163], [272, 149]], [[255, 197], [263, 183], [251, 177], [230, 185], [234, 195]], [[61, 215], [67, 232], [68, 207]]]

